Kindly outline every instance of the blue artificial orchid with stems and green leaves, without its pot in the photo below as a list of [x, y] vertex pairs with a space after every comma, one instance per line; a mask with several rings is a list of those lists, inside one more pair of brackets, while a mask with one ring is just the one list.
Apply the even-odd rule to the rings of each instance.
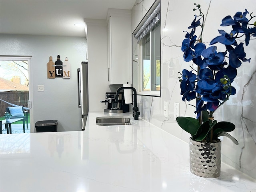
[[[235, 144], [238, 141], [227, 132], [233, 131], [235, 125], [231, 122], [217, 122], [214, 120], [214, 112], [226, 102], [231, 95], [236, 94], [236, 89], [231, 85], [237, 75], [237, 68], [242, 62], [250, 62], [245, 58], [244, 43], [238, 44], [238, 38], [245, 38], [245, 45], [250, 42], [250, 36], [256, 37], [256, 22], [251, 24], [253, 18], [249, 12], [236, 12], [234, 17], [226, 16], [220, 26], [232, 26], [230, 33], [224, 30], [218, 30], [220, 36], [215, 37], [206, 45], [202, 40], [204, 30], [204, 14], [201, 12], [199, 4], [194, 4], [194, 11], [199, 11], [195, 15], [191, 26], [191, 32], [186, 32], [185, 39], [182, 42], [182, 51], [184, 52], [184, 61], [193, 61], [197, 69], [191, 71], [184, 69], [180, 78], [180, 88], [183, 101], [196, 99], [196, 118], [177, 117], [179, 126], [190, 133], [193, 140], [202, 142], [214, 142], [219, 136], [227, 136]], [[202, 23], [201, 23], [202, 21]], [[200, 29], [200, 35], [195, 35], [196, 29]], [[226, 47], [225, 52], [217, 52], [217, 46], [213, 44], [220, 43]], [[197, 74], [195, 74], [197, 73]]]

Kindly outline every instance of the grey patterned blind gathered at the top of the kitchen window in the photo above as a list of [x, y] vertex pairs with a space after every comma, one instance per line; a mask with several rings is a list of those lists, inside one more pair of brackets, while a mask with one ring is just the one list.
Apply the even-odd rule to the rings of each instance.
[[160, 20], [161, 14], [160, 14], [160, 3], [158, 6], [156, 6], [155, 10], [150, 14], [146, 22], [142, 25], [140, 30], [136, 34], [134, 34], [135, 38], [138, 40], [138, 42], [152, 29], [155, 24]]

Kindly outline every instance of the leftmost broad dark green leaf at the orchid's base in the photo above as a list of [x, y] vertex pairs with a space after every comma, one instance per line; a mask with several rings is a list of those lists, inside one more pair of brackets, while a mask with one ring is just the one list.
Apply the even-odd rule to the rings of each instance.
[[190, 133], [191, 136], [196, 134], [200, 126], [198, 120], [192, 117], [177, 117], [176, 121], [179, 126], [186, 132]]

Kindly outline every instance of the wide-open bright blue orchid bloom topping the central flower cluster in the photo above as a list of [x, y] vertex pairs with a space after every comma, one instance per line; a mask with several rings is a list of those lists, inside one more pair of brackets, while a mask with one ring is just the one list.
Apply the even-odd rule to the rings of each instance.
[[202, 56], [207, 58], [205, 61], [208, 65], [219, 65], [224, 61], [226, 53], [217, 52], [216, 50], [216, 46], [211, 46], [202, 51]]

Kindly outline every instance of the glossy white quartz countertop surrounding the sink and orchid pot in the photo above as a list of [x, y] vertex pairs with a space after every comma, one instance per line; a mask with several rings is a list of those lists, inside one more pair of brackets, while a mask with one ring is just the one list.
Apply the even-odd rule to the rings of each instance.
[[[256, 192], [222, 163], [218, 178], [190, 173], [189, 146], [144, 120], [85, 131], [0, 135], [1, 192]], [[114, 114], [131, 116], [131, 114]]]

